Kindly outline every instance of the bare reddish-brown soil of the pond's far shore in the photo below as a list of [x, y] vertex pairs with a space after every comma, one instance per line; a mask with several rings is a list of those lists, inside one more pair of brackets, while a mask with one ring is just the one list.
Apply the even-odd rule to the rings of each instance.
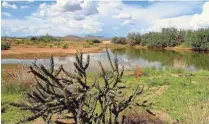
[[[130, 47], [129, 45], [121, 45], [121, 44], [98, 44], [96, 46], [91, 46], [89, 48], [85, 48], [82, 46], [70, 46], [66, 49], [57, 48], [57, 47], [44, 47], [39, 48], [35, 46], [27, 46], [27, 47], [20, 47], [20, 46], [12, 46], [9, 50], [1, 50], [1, 58], [21, 58], [21, 59], [35, 59], [35, 58], [46, 58], [49, 57], [51, 54], [54, 56], [67, 56], [67, 55], [74, 55], [77, 51], [82, 51], [83, 53], [99, 53], [104, 50], [104, 48], [108, 46], [108, 48], [127, 48]], [[136, 49], [149, 49], [146, 46], [133, 46]], [[192, 51], [191, 48], [185, 47], [166, 47], [164, 50], [171, 50], [176, 52], [181, 51]]]

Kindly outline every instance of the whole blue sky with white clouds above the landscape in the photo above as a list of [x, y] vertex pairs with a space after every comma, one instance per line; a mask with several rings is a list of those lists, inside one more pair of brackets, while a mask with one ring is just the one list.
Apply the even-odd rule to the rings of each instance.
[[127, 36], [209, 27], [209, 1], [1, 1], [2, 36]]

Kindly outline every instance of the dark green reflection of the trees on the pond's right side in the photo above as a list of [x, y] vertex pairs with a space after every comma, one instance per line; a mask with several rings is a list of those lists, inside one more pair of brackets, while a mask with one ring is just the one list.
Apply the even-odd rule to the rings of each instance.
[[195, 66], [199, 69], [209, 70], [209, 53], [134, 49], [131, 47], [126, 49], [114, 49], [111, 51], [118, 55], [126, 54], [128, 58], [133, 60], [141, 58], [149, 62], [160, 62], [164, 66]]

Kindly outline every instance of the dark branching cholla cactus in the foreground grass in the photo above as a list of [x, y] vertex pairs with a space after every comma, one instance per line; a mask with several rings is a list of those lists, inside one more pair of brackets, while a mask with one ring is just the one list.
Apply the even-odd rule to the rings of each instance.
[[[74, 73], [69, 73], [61, 65], [58, 70], [54, 68], [53, 56], [50, 59], [50, 68], [34, 63], [30, 72], [35, 76], [36, 88], [27, 93], [28, 103], [11, 103], [21, 110], [29, 110], [31, 117], [20, 120], [24, 123], [42, 117], [46, 123], [76, 123], [76, 124], [118, 124], [120, 113], [132, 105], [145, 107], [144, 103], [134, 103], [136, 96], [143, 93], [143, 87], [136, 87], [132, 95], [126, 96], [127, 88], [122, 81], [124, 68], [119, 70], [117, 57], [112, 62], [109, 52], [107, 57], [111, 71], [104, 69], [101, 62], [101, 77], [104, 83], [97, 79], [88, 82], [86, 70], [90, 63], [90, 56], [83, 62], [83, 54], [77, 53], [74, 62]], [[60, 73], [67, 78], [61, 78]], [[71, 114], [71, 116], [66, 116]], [[59, 115], [62, 119], [53, 119]], [[70, 120], [65, 122], [63, 120]]]

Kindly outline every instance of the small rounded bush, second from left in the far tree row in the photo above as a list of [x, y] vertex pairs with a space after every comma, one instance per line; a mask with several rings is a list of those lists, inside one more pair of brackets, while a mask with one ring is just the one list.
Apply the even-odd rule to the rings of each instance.
[[127, 36], [127, 41], [131, 46], [140, 45], [141, 35], [139, 33], [129, 33]]

